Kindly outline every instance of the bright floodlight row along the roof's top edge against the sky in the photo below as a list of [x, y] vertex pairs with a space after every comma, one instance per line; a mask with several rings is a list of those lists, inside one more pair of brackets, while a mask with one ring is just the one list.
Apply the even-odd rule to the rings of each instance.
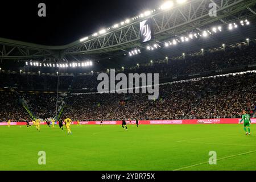
[[[177, 4], [181, 4], [181, 3], [187, 2], [187, 0], [176, 0], [176, 2], [177, 2]], [[168, 10], [168, 9], [171, 9], [171, 7], [173, 7], [173, 6], [174, 6], [174, 2], [173, 1], [167, 1], [167, 2], [163, 3], [163, 5], [160, 6], [158, 9], [159, 10]], [[156, 12], [155, 9], [154, 10], [145, 11], [144, 13], [141, 13], [138, 16], [134, 16], [132, 18], [132, 20], [136, 20], [138, 18], [144, 18], [146, 16], [150, 16], [152, 13], [155, 13], [155, 12]], [[112, 27], [109, 27], [109, 28], [106, 28], [106, 29], [102, 29], [102, 30], [100, 30], [98, 32], [95, 32], [94, 34], [92, 34], [92, 37], [96, 37], [98, 35], [105, 34], [107, 31], [110, 31], [112, 29], [124, 26], [125, 24], [129, 24], [130, 22], [131, 22], [131, 19], [123, 20], [121, 23], [116, 23]], [[88, 39], [89, 39], [89, 36], [86, 36], [85, 38], [80, 39], [80, 42], [84, 42], [85, 40], [88, 40]]]

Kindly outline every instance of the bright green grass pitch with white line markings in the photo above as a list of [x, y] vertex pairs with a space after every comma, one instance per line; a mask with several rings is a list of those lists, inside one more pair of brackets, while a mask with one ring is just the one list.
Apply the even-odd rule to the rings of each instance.
[[[256, 170], [256, 128], [242, 125], [0, 127], [0, 170]], [[46, 165], [38, 152], [46, 152]], [[217, 152], [210, 165], [209, 151]]]

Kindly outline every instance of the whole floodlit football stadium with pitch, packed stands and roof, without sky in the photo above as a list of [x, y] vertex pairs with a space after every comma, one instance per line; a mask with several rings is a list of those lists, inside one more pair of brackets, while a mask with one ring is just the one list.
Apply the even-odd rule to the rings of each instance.
[[256, 170], [256, 1], [154, 2], [63, 45], [0, 34], [0, 171]]

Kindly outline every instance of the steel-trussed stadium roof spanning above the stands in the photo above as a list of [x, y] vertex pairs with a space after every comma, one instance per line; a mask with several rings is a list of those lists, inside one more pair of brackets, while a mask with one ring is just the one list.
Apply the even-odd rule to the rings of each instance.
[[[217, 4], [217, 16], [209, 16], [209, 3]], [[104, 31], [97, 31], [83, 40], [66, 44], [64, 46], [43, 46], [34, 43], [20, 42], [0, 38], [0, 59], [3, 63], [10, 63], [6, 60], [26, 61], [38, 60], [56, 63], [61, 61], [93, 60], [100, 64], [101, 68], [118, 68], [121, 65], [134, 65], [154, 59], [163, 59], [166, 56], [177, 56], [181, 53], [189, 53], [221, 46], [222, 44], [234, 44], [255, 39], [255, 1], [253, 0], [191, 0], [183, 4], [175, 4], [171, 9], [148, 10], [151, 13], [146, 15], [133, 16], [129, 22], [123, 20], [118, 26], [106, 28]], [[146, 13], [145, 13], [146, 14]], [[140, 17], [141, 16], [141, 17]], [[138, 17], [138, 18], [137, 18]], [[139, 22], [151, 17], [155, 39], [148, 44], [141, 44], [139, 41]], [[241, 26], [240, 21], [248, 19], [249, 26]], [[227, 30], [230, 23], [236, 23], [238, 28]], [[210, 30], [212, 27], [221, 26], [223, 31], [207, 38], [180, 43], [177, 46], [164, 47], [164, 43], [172, 39], [180, 39], [181, 36], [200, 33]], [[149, 51], [148, 46], [159, 44], [161, 48]], [[141, 53], [129, 56], [129, 51], [141, 49]]]

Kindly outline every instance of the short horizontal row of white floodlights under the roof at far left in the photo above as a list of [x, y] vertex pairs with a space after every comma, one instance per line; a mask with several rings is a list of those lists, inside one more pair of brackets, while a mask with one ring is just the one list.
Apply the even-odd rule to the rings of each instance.
[[86, 62], [82, 62], [82, 63], [56, 63], [56, 64], [52, 64], [52, 63], [38, 63], [38, 62], [26, 62], [26, 65], [30, 65], [30, 66], [34, 66], [34, 67], [57, 67], [57, 68], [75, 68], [75, 67], [89, 67], [92, 66], [93, 63], [92, 61], [86, 61]]

